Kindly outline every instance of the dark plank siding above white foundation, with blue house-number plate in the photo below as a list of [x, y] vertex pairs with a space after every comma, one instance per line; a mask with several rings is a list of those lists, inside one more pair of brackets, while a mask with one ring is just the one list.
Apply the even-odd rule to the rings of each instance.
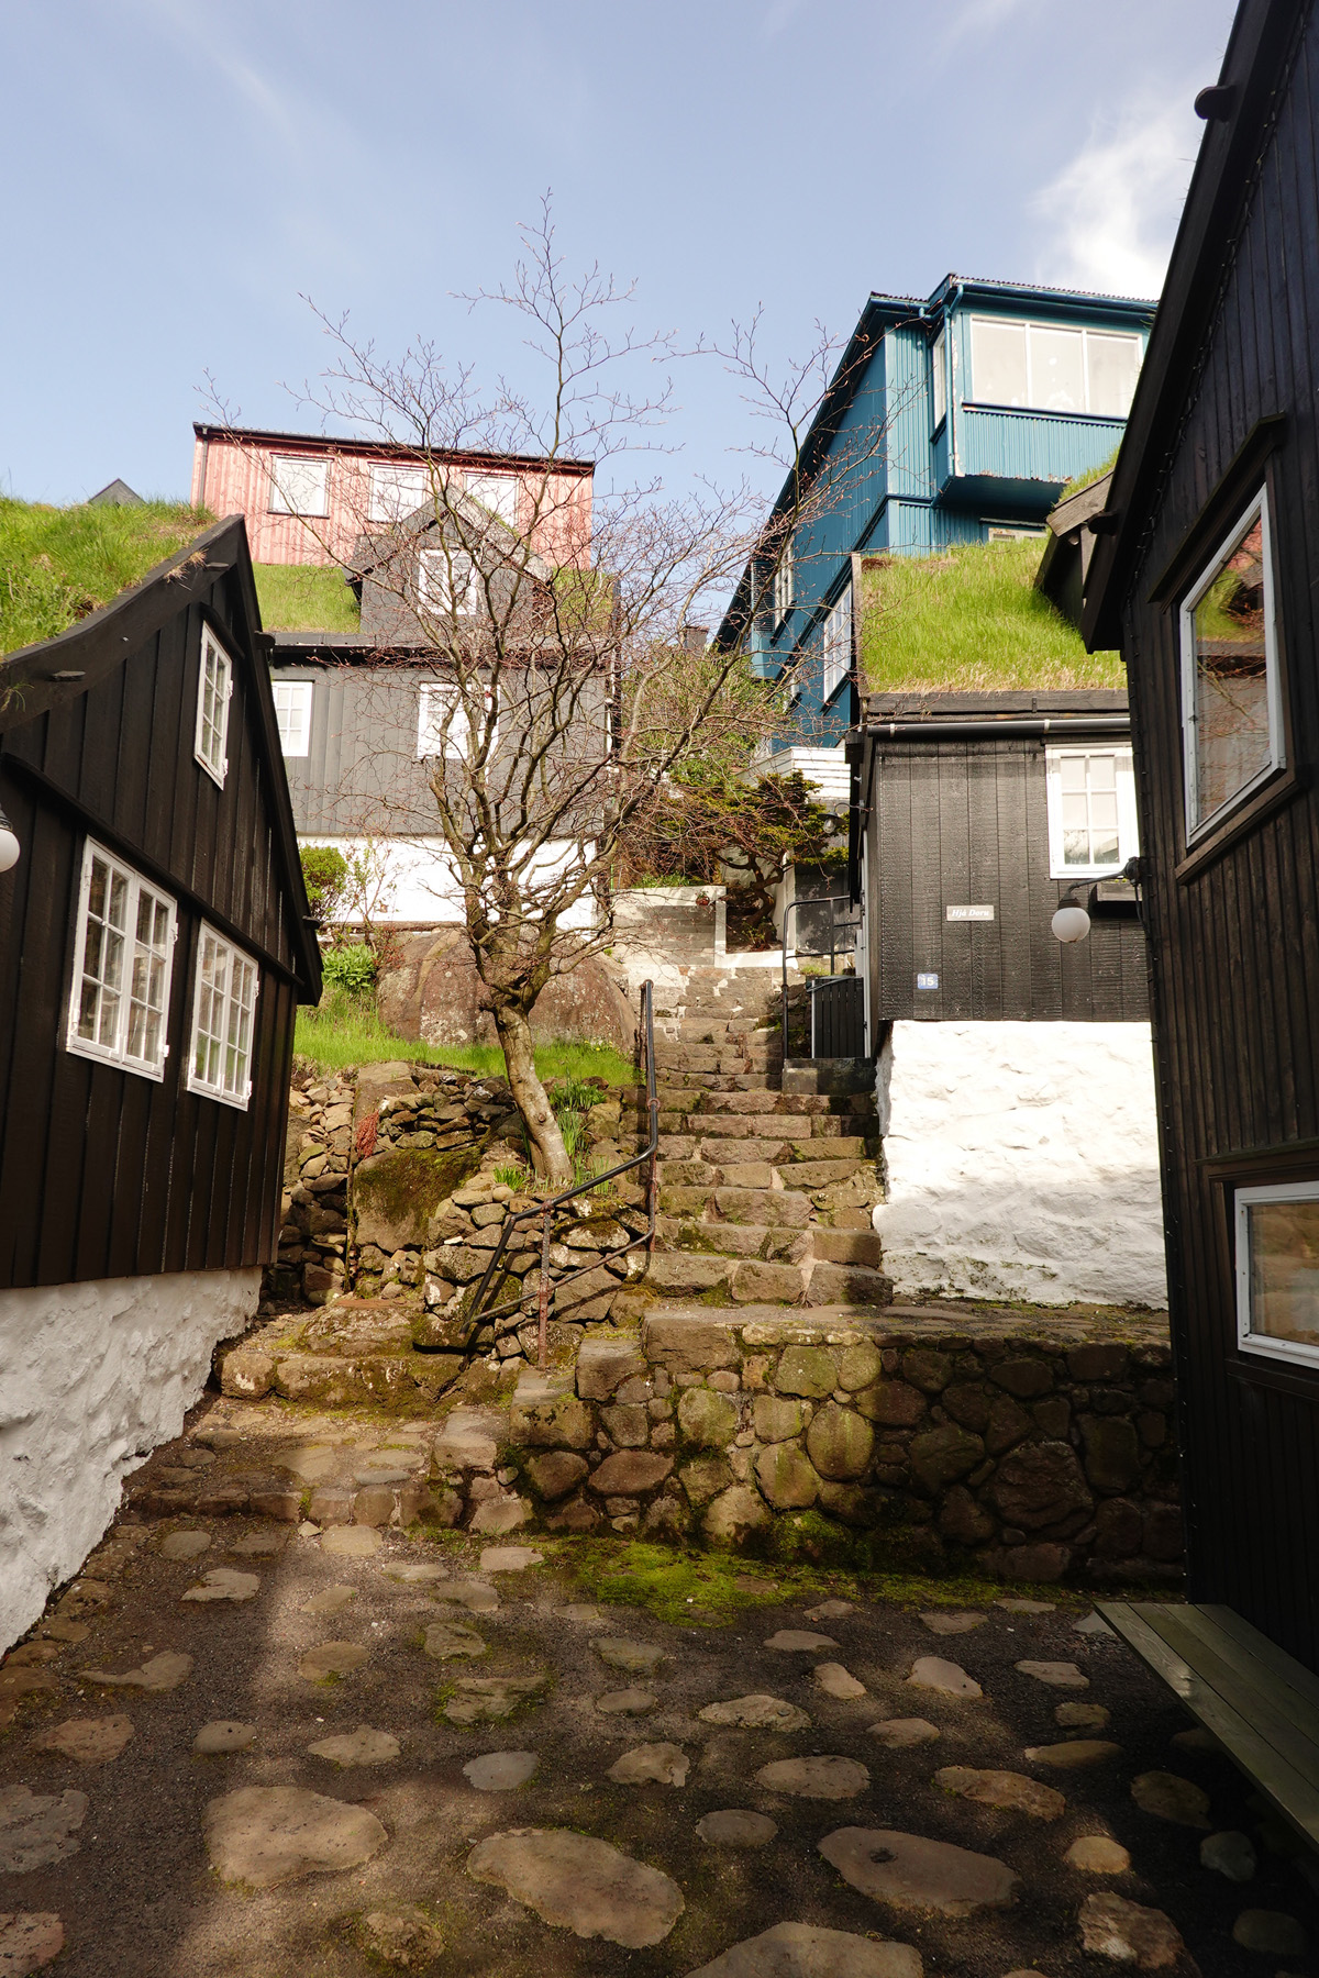
[[[886, 738], [872, 789], [870, 1007], [880, 1023], [1149, 1015], [1139, 922], [1096, 920], [1070, 947], [1050, 932], [1068, 882], [1048, 876], [1042, 742]], [[949, 922], [947, 906], [993, 906], [995, 918]], [[935, 973], [939, 987], [918, 989], [918, 973]]]

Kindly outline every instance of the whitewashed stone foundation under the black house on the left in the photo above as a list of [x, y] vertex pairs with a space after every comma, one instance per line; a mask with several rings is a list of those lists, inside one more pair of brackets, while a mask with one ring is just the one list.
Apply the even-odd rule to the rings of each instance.
[[259, 1270], [0, 1292], [0, 1650], [83, 1565], [123, 1480], [180, 1432], [259, 1294]]

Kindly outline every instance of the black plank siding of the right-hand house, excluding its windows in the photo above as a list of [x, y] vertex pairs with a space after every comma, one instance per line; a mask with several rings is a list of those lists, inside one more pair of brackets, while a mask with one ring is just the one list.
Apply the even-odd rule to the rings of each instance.
[[[1252, 6], [1244, 16], [1264, 18]], [[1281, 18], [1277, 14], [1275, 18]], [[1159, 1058], [1169, 1280], [1188, 1505], [1188, 1590], [1319, 1669], [1319, 1371], [1236, 1347], [1232, 1187], [1319, 1177], [1319, 16], [1285, 20], [1268, 109], [1248, 133], [1236, 214], [1169, 293], [1183, 338], [1141, 439], [1149, 498], [1123, 574]], [[1250, 85], [1244, 85], [1250, 91]], [[1240, 89], [1238, 89], [1240, 95]], [[1248, 97], [1250, 99], [1250, 97]], [[1206, 150], [1228, 136], [1206, 136]], [[1242, 135], [1246, 142], [1246, 133]], [[1212, 160], [1210, 160], [1212, 162]], [[1212, 186], [1220, 200], [1222, 188]], [[1208, 194], [1206, 194], [1208, 196]], [[1192, 188], [1194, 208], [1194, 188]], [[1194, 222], [1198, 208], [1188, 210]], [[1179, 285], [1181, 283], [1181, 285]], [[1192, 362], [1185, 338], [1196, 332]], [[1159, 334], [1159, 332], [1155, 332]], [[1153, 346], [1151, 346], [1153, 348]], [[1216, 851], [1188, 860], [1179, 599], [1151, 599], [1260, 421], [1283, 641], [1289, 779]], [[1133, 415], [1135, 419], [1135, 415]], [[1157, 461], [1157, 467], [1153, 465]], [[1260, 469], [1258, 481], [1266, 479]], [[1230, 483], [1228, 483], [1230, 485]], [[1242, 508], [1246, 496], [1242, 498]], [[1125, 526], [1125, 524], [1123, 524]], [[1226, 524], [1224, 524], [1226, 528]], [[1185, 870], [1179, 874], [1179, 866]], [[1268, 1173], [1268, 1163], [1275, 1165]]]

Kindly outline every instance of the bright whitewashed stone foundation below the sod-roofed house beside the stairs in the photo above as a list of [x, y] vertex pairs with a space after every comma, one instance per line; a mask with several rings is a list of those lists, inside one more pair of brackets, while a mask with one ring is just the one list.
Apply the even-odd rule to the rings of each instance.
[[1167, 1305], [1147, 1023], [894, 1023], [878, 1102], [898, 1298]]

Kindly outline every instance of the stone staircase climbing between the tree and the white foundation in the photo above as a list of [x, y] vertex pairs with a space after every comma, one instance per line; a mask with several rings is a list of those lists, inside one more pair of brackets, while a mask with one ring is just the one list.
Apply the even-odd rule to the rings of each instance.
[[660, 1220], [647, 1288], [702, 1305], [886, 1305], [874, 1074], [789, 1064], [771, 969], [657, 995]]

